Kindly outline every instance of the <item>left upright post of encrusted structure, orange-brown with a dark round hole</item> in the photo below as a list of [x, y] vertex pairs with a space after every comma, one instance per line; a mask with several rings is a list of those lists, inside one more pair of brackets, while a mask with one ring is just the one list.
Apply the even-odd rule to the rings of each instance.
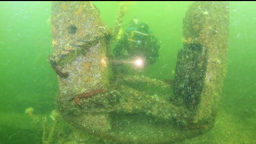
[[57, 45], [49, 60], [68, 73], [59, 77], [59, 101], [107, 86], [105, 32], [91, 2], [52, 3], [52, 36]]

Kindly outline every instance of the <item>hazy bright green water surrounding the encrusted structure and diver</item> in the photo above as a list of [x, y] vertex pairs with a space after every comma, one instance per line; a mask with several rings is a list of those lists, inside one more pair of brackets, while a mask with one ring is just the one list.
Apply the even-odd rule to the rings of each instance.
[[[161, 45], [159, 60], [144, 75], [174, 78], [182, 20], [191, 3], [129, 5], [124, 23], [134, 17], [146, 22]], [[94, 4], [102, 21], [113, 28], [118, 2]], [[255, 2], [230, 2], [227, 74], [214, 128], [177, 143], [256, 143], [255, 10]], [[50, 19], [51, 2], [0, 2], [0, 143], [42, 143], [39, 121], [55, 109], [59, 90], [57, 74], [47, 61], [52, 52]], [[38, 120], [25, 113], [28, 107]]]

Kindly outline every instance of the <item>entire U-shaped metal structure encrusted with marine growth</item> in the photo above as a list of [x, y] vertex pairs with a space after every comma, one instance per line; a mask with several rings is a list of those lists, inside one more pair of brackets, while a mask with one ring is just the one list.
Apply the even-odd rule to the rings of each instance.
[[77, 129], [117, 143], [170, 143], [209, 130], [225, 77], [228, 22], [227, 2], [189, 6], [172, 86], [129, 73], [110, 77], [115, 71], [111, 31], [97, 7], [53, 2], [49, 61], [58, 74], [61, 116]]

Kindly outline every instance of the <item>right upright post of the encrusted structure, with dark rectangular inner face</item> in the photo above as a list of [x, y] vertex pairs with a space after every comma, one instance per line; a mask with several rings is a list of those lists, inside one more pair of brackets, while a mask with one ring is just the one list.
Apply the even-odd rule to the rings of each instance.
[[174, 95], [194, 122], [211, 119], [226, 73], [229, 36], [228, 2], [195, 2], [183, 19], [185, 43], [178, 54]]

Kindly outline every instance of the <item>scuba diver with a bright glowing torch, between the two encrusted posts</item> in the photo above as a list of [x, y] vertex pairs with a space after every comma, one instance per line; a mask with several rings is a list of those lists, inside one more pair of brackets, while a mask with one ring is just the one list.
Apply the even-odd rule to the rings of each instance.
[[147, 67], [157, 61], [160, 48], [157, 39], [152, 35], [146, 23], [134, 18], [123, 30], [117, 34], [117, 44], [113, 49], [115, 69], [117, 73], [129, 73], [133, 68]]

